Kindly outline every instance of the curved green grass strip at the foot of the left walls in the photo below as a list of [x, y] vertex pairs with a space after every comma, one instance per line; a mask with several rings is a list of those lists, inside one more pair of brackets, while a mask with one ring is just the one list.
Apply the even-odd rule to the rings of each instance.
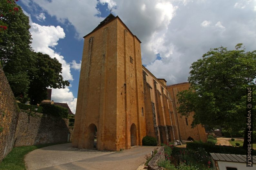
[[[67, 143], [67, 142], [62, 142]], [[43, 148], [51, 145], [56, 145], [61, 143], [48, 143], [48, 144], [41, 144], [35, 146], [25, 146], [25, 147], [16, 147], [13, 148], [12, 151], [3, 159], [0, 163], [1, 170], [25, 170], [25, 162], [24, 157], [29, 152]]]

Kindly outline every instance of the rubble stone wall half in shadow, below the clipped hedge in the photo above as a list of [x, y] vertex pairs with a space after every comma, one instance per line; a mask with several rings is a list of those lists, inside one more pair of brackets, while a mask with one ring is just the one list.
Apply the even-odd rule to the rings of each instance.
[[68, 119], [35, 112], [29, 115], [22, 111], [19, 114], [15, 134], [15, 147], [66, 142], [68, 136], [72, 136]]

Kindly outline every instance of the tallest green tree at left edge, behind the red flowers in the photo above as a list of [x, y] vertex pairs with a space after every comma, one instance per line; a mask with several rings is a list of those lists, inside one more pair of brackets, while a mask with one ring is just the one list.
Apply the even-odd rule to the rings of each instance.
[[[18, 11], [5, 13], [10, 6]], [[0, 12], [3, 14], [0, 21], [8, 25], [5, 31], [0, 31], [0, 61], [15, 96], [24, 95], [30, 82], [28, 72], [34, 65], [29, 18], [14, 1], [10, 4], [1, 0]]]

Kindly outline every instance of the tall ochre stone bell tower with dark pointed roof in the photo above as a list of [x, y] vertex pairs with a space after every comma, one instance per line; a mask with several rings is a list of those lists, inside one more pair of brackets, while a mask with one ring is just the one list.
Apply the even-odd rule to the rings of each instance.
[[142, 145], [140, 43], [112, 14], [84, 36], [73, 147], [116, 151]]

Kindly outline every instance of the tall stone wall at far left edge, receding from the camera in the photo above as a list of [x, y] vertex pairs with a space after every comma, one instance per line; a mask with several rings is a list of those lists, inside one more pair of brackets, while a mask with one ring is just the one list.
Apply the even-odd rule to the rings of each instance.
[[14, 146], [18, 114], [14, 94], [0, 66], [0, 162]]

